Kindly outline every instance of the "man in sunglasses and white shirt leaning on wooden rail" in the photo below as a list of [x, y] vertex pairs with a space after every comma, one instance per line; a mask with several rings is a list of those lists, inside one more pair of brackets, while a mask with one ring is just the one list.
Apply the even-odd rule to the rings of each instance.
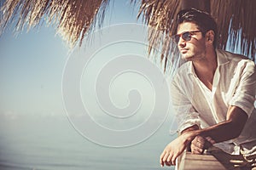
[[230, 154], [256, 157], [255, 64], [216, 49], [216, 33], [207, 13], [191, 8], [177, 14], [175, 40], [188, 62], [172, 80], [179, 136], [166, 145], [161, 166], [175, 165], [187, 147], [202, 154], [212, 144]]

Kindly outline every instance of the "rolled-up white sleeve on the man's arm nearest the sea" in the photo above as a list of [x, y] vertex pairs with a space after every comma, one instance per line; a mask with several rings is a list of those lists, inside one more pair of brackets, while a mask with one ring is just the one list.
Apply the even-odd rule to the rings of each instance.
[[172, 96], [172, 109], [177, 121], [177, 130], [181, 133], [184, 129], [193, 125], [200, 127], [201, 121], [199, 114], [195, 111], [193, 105], [191, 105], [188, 97], [181, 90], [182, 83], [178, 83], [177, 79], [172, 81], [171, 96]]

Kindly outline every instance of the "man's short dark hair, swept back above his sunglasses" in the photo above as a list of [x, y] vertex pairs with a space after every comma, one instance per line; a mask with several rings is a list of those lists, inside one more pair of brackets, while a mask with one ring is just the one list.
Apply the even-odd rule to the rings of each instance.
[[213, 46], [214, 48], [216, 48], [217, 42], [218, 42], [217, 24], [210, 14], [195, 8], [183, 9], [177, 14], [176, 31], [177, 31], [177, 26], [184, 22], [195, 23], [195, 25], [197, 25], [199, 29], [202, 31], [203, 36], [206, 35], [207, 31], [210, 31], [210, 30], [214, 31]]

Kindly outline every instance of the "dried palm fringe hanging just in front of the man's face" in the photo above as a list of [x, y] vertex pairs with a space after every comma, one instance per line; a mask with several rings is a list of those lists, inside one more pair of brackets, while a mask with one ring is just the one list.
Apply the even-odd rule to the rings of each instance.
[[[172, 66], [177, 63], [178, 51], [175, 43], [172, 43], [172, 34], [175, 30], [173, 20], [177, 15], [177, 9], [181, 9], [181, 1], [164, 0], [143, 0], [140, 6], [138, 17], [143, 15], [145, 24], [149, 26], [148, 30], [148, 53], [161, 48], [161, 60], [166, 65]], [[169, 54], [171, 58], [167, 59]]]

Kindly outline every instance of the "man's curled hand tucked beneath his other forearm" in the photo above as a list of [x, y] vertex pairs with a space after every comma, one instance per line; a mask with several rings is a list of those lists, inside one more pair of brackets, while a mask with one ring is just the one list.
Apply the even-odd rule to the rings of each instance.
[[190, 148], [192, 154], [202, 154], [204, 150], [208, 149], [212, 144], [215, 144], [215, 141], [210, 138], [203, 138], [201, 136], [196, 136], [195, 139], [192, 140]]

